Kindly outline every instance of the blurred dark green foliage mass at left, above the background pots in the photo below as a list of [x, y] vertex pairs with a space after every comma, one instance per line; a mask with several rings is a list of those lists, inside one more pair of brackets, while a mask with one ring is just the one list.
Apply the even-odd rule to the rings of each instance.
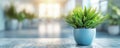
[[8, 8], [6, 8], [4, 13], [8, 18], [16, 19], [19, 22], [22, 22], [24, 19], [32, 20], [34, 18], [37, 18], [36, 14], [26, 12], [25, 10], [17, 12], [13, 4], [11, 4]]

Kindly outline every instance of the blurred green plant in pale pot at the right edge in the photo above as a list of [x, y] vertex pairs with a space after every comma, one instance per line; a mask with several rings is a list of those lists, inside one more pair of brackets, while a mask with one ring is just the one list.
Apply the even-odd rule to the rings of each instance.
[[119, 24], [120, 24], [120, 9], [116, 6], [111, 6], [112, 13], [109, 15], [109, 26], [108, 26], [108, 33], [111, 35], [118, 35], [119, 34]]

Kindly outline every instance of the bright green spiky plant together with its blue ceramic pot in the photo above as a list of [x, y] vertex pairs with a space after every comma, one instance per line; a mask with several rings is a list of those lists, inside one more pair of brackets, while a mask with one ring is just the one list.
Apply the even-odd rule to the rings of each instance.
[[96, 36], [96, 26], [104, 21], [106, 17], [101, 16], [96, 9], [76, 7], [65, 21], [74, 27], [74, 38], [77, 45], [91, 45]]

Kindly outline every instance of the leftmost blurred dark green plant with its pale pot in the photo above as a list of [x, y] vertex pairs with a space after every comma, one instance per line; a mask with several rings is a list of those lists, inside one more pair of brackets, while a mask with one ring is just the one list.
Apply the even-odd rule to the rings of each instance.
[[16, 30], [17, 29], [17, 20], [16, 20], [16, 9], [13, 4], [11, 4], [9, 7], [6, 7], [4, 10], [4, 14], [6, 16], [6, 25], [7, 29], [10, 30]]

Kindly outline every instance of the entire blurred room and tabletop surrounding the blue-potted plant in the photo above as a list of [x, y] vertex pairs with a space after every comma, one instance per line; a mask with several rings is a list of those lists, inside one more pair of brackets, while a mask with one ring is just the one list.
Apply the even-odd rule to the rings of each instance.
[[[0, 48], [120, 48], [120, 0], [0, 0]], [[65, 17], [77, 6], [109, 16], [91, 46], [77, 46]]]

